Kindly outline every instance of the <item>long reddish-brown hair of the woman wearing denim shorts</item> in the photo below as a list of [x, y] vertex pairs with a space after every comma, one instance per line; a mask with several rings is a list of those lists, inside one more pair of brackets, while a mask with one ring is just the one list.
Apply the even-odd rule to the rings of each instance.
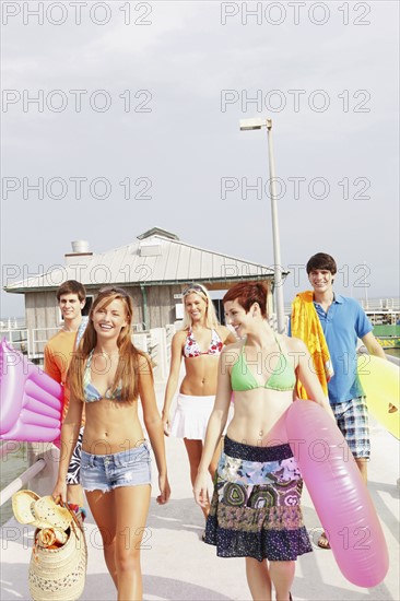
[[[115, 393], [117, 388], [121, 386], [121, 400], [137, 400], [139, 396], [139, 361], [141, 357], [145, 360], [145, 367], [141, 366], [140, 370], [144, 369], [153, 376], [150, 360], [145, 353], [133, 346], [131, 341], [131, 325], [133, 316], [133, 304], [129, 294], [120, 287], [107, 287], [101, 290], [98, 296], [94, 300], [89, 316], [89, 323], [85, 332], [79, 344], [75, 353], [73, 353], [68, 378], [70, 382], [71, 394], [80, 401], [84, 401], [83, 375], [90, 353], [97, 344], [97, 333], [93, 326], [93, 314], [97, 307], [107, 307], [113, 300], [119, 299], [122, 302], [126, 313], [127, 325], [121, 329], [117, 340], [119, 352], [118, 366], [115, 374], [110, 393]], [[142, 362], [143, 365], [143, 362]], [[148, 372], [148, 373], [149, 373]]]

